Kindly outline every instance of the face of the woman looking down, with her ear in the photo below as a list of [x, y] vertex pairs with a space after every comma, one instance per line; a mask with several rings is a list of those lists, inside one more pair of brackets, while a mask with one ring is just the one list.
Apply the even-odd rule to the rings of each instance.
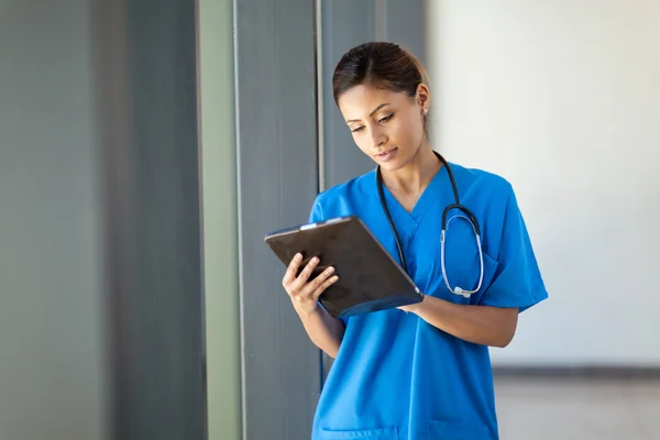
[[404, 92], [355, 86], [338, 100], [353, 141], [384, 169], [406, 166], [425, 142], [425, 109], [428, 88], [420, 85], [416, 97]]

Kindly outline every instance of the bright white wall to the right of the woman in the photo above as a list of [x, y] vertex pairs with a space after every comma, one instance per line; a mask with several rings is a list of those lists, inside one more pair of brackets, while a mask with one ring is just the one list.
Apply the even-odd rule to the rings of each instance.
[[430, 4], [435, 146], [514, 184], [550, 293], [494, 363], [660, 366], [660, 2]]

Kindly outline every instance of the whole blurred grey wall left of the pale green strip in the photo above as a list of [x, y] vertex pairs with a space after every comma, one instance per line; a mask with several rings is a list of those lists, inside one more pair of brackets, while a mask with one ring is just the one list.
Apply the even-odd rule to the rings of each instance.
[[0, 7], [2, 440], [206, 438], [196, 7]]

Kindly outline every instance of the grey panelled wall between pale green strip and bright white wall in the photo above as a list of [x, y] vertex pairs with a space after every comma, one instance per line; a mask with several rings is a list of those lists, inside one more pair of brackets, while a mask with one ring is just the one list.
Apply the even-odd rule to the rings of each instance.
[[263, 238], [306, 222], [319, 189], [373, 167], [332, 102], [332, 69], [348, 48], [375, 38], [396, 38], [422, 55], [426, 26], [413, 18], [424, 18], [425, 6], [234, 4], [243, 436], [307, 439], [330, 362], [305, 333], [282, 288], [285, 267]]

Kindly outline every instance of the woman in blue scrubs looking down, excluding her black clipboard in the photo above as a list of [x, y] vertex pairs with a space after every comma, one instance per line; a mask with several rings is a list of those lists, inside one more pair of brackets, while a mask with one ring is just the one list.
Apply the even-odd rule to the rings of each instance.
[[[393, 257], [403, 256], [425, 297], [334, 319], [318, 302], [337, 280], [332, 268], [311, 279], [312, 261], [296, 277], [301, 258], [292, 261], [283, 285], [311, 341], [336, 359], [312, 439], [498, 439], [488, 346], [506, 346], [518, 314], [548, 297], [512, 185], [433, 152], [428, 81], [399, 46], [350, 50], [332, 87], [355, 144], [376, 166], [320, 194], [310, 221], [359, 216]], [[443, 211], [455, 202], [450, 172], [481, 252], [470, 216], [453, 208], [441, 255]]]

